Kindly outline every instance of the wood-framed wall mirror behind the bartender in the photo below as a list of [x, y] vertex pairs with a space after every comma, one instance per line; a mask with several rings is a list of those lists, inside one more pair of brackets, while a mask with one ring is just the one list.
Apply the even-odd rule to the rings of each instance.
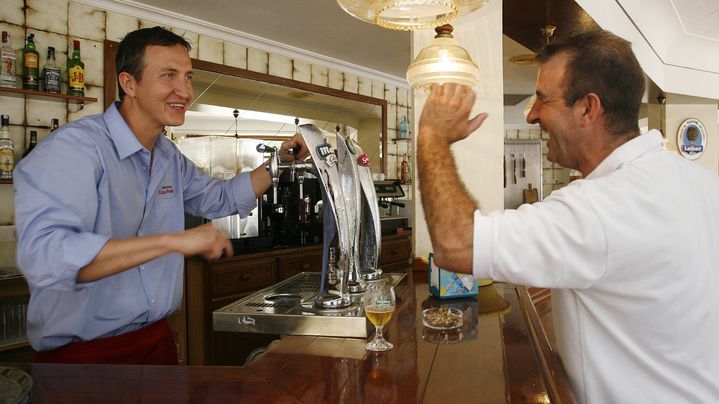
[[[117, 97], [117, 46], [105, 42], [105, 107]], [[328, 132], [339, 127], [358, 141], [373, 173], [386, 173], [387, 101], [197, 59], [192, 65], [194, 99], [185, 124], [168, 134], [211, 175], [255, 168], [263, 160], [256, 144], [292, 136], [295, 118]]]

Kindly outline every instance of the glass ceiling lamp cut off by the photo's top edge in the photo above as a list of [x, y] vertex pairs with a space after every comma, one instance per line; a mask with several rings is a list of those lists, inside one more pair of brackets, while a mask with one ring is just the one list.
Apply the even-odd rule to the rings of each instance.
[[351, 16], [380, 27], [413, 31], [447, 24], [487, 0], [337, 0]]

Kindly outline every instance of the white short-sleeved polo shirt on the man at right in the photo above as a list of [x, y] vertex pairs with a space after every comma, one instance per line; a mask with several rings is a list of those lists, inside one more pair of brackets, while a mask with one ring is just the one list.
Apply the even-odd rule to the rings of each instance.
[[658, 131], [543, 202], [474, 215], [474, 276], [555, 288], [582, 403], [719, 402], [719, 177]]

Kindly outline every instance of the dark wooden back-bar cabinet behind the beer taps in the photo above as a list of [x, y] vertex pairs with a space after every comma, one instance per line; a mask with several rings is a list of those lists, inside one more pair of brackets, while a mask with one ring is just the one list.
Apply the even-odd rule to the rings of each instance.
[[[385, 272], [411, 274], [412, 243], [408, 234], [382, 240], [380, 265]], [[254, 349], [279, 335], [219, 332], [212, 329], [212, 312], [259, 289], [300, 272], [317, 272], [322, 246], [272, 250], [207, 262], [186, 262], [187, 364], [242, 365]]]

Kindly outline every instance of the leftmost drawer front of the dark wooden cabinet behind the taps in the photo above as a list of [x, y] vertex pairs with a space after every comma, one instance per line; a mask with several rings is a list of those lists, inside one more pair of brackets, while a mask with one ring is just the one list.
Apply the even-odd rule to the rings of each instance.
[[275, 258], [217, 264], [212, 268], [212, 298], [239, 295], [277, 282]]

